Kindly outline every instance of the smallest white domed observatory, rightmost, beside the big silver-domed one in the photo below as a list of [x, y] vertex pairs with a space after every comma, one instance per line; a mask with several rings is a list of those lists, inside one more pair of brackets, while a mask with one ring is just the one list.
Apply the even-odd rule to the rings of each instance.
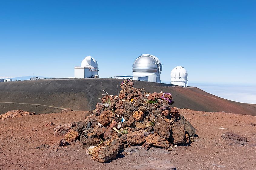
[[177, 66], [171, 70], [171, 84], [187, 87], [188, 72], [184, 67]]

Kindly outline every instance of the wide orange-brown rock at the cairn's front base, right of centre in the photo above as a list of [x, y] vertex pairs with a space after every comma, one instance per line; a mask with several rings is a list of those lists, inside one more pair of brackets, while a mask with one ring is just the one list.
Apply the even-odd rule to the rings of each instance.
[[146, 142], [153, 146], [163, 147], [163, 148], [169, 148], [169, 142], [165, 140], [165, 138], [162, 138], [157, 133], [150, 134], [145, 138]]

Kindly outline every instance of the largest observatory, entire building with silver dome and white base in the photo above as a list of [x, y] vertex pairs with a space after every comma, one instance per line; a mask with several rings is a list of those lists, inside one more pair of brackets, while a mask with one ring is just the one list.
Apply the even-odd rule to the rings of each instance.
[[142, 54], [134, 60], [132, 72], [133, 80], [161, 83], [162, 64], [156, 56]]

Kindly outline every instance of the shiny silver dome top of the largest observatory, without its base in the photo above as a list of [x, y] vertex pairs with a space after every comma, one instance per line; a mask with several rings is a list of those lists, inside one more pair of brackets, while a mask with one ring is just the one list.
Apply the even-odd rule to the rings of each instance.
[[142, 54], [135, 59], [132, 65], [133, 72], [159, 72], [162, 71], [162, 64], [160, 60], [150, 54]]

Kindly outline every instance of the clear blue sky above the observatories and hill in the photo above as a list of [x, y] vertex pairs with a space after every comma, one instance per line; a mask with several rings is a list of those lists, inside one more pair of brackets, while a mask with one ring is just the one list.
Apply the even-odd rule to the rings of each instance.
[[0, 77], [73, 77], [85, 56], [100, 77], [131, 75], [143, 53], [161, 80], [256, 84], [256, 1], [0, 1]]

